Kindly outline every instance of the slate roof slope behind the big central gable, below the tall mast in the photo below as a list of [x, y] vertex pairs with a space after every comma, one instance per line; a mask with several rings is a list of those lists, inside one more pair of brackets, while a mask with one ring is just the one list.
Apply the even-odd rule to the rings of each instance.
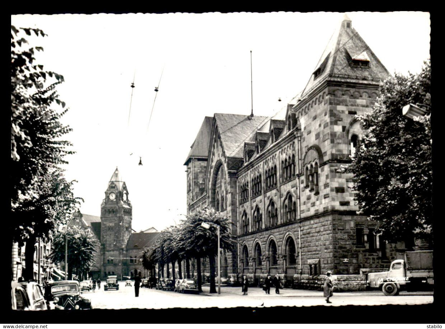
[[228, 157], [243, 158], [244, 142], [252, 142], [257, 130], [267, 123], [267, 116], [215, 113], [221, 143]]

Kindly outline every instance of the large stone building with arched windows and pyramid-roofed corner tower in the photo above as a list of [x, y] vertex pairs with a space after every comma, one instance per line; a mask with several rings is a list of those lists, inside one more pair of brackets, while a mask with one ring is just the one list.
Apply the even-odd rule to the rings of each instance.
[[278, 273], [287, 285], [310, 286], [331, 270], [363, 284], [362, 274], [405, 250], [373, 234], [376, 222], [356, 213], [352, 174], [339, 172], [364, 134], [356, 115], [371, 111], [389, 76], [346, 15], [339, 25], [287, 107], [272, 117], [205, 117], [191, 146], [188, 212], [210, 206], [236, 223], [223, 277], [259, 284]]

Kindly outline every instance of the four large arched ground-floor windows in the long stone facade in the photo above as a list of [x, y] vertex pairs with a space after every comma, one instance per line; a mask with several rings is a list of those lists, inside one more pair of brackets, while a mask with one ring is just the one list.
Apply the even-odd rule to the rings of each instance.
[[[261, 246], [257, 242], [255, 244], [255, 267], [263, 266], [263, 252], [261, 251]], [[295, 266], [297, 264], [296, 257], [298, 256], [296, 252], [296, 245], [295, 240], [291, 236], [287, 237], [286, 243], [285, 243], [285, 250], [284, 253], [286, 258], [286, 265], [287, 266]], [[243, 250], [241, 252], [241, 262], [243, 268], [248, 268], [251, 264], [249, 262], [249, 250], [247, 248], [247, 245], [243, 246]], [[269, 266], [276, 266], [278, 265], [278, 248], [273, 239], [270, 240], [268, 246], [267, 246], [267, 260], [269, 261]]]

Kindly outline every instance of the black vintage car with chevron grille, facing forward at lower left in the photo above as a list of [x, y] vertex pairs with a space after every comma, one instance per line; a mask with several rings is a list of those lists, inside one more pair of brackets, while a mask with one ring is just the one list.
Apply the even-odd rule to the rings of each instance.
[[91, 301], [81, 295], [79, 282], [56, 281], [45, 287], [47, 304], [53, 302], [56, 309], [92, 309]]

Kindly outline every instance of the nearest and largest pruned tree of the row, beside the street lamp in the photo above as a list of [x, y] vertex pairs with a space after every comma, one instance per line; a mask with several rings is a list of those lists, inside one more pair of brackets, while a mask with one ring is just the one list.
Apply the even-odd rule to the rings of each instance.
[[201, 258], [208, 257], [210, 261], [210, 293], [216, 293], [215, 285], [215, 256], [218, 254], [217, 227], [211, 225], [209, 229], [201, 226], [203, 222], [219, 225], [221, 249], [232, 250], [235, 241], [231, 238], [229, 219], [213, 209], [205, 208], [194, 214], [187, 215], [182, 223], [179, 236], [180, 247], [187, 250], [185, 254], [196, 258], [198, 267], [198, 289], [201, 286]]

